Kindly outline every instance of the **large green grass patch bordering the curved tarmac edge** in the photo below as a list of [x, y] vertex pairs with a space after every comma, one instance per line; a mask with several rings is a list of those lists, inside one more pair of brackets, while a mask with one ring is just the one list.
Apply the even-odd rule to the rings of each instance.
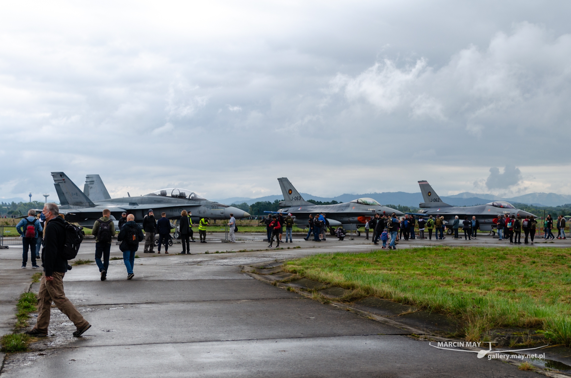
[[571, 248], [411, 248], [320, 254], [284, 270], [463, 321], [481, 340], [493, 327], [544, 328], [571, 345]]

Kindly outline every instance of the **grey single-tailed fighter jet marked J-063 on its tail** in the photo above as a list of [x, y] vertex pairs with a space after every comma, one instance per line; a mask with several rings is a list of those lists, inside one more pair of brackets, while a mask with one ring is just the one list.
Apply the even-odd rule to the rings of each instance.
[[315, 215], [320, 212], [325, 213], [330, 226], [338, 227], [343, 225], [343, 228], [347, 230], [350, 228], [356, 230], [359, 227], [364, 227], [365, 222], [375, 216], [375, 214], [391, 215], [394, 212], [396, 215], [404, 215], [399, 210], [382, 206], [372, 198], [359, 198], [351, 202], [334, 205], [316, 205], [301, 198], [299, 192], [286, 177], [279, 178], [278, 182], [284, 195], [284, 200], [279, 203], [279, 206], [283, 208], [278, 210], [278, 212], [291, 213], [295, 216], [293, 222], [303, 228], [307, 225], [309, 214]]

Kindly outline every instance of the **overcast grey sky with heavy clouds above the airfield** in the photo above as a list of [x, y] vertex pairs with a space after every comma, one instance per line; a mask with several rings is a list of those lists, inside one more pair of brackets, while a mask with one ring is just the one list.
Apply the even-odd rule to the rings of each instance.
[[571, 194], [570, 8], [5, 2], [0, 197]]

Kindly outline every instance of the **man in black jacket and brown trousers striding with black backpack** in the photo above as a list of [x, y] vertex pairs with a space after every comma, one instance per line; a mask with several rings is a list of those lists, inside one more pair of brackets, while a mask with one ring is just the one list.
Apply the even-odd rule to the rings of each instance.
[[63, 276], [67, 272], [67, 260], [61, 257], [66, 242], [66, 223], [59, 217], [59, 208], [55, 203], [46, 203], [42, 214], [46, 217], [46, 234], [43, 238], [42, 266], [43, 277], [38, 292], [38, 319], [30, 336], [47, 336], [50, 325], [51, 302], [59, 311], [65, 313], [75, 324], [74, 336], [81, 336], [91, 327], [63, 292]]

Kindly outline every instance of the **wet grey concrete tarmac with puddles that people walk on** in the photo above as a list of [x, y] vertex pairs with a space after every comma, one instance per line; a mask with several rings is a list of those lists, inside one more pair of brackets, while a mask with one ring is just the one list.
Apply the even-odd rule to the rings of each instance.
[[[481, 239], [480, 239], [481, 238]], [[111, 261], [100, 281], [94, 263], [74, 266], [65, 276], [70, 300], [93, 325], [83, 337], [52, 308], [49, 337], [32, 351], [5, 358], [2, 377], [106, 376], [308, 376], [308, 377], [523, 377], [535, 373], [513, 365], [477, 359], [476, 353], [432, 348], [404, 336], [403, 329], [344, 311], [252, 279], [244, 264], [291, 259], [320, 252], [377, 249], [364, 238], [315, 243], [294, 240], [284, 250], [267, 242], [192, 243], [193, 255], [143, 254], [135, 278], [126, 280], [122, 260]], [[369, 241], [370, 242], [370, 241]], [[463, 241], [462, 241], [463, 242]], [[445, 245], [464, 244], [445, 239]], [[406, 246], [432, 244], [425, 240]], [[466, 243], [467, 244], [467, 243]], [[464, 244], [464, 245], [466, 245]], [[471, 244], [505, 245], [489, 236]], [[303, 248], [293, 248], [293, 247]], [[569, 246], [556, 241], [535, 246]], [[142, 247], [142, 246], [141, 246]], [[236, 253], [215, 251], [258, 250]], [[83, 244], [78, 258], [94, 259], [94, 244]], [[169, 248], [179, 252], [180, 245]], [[113, 245], [111, 256], [120, 256]], [[204, 252], [208, 251], [208, 254]], [[0, 251], [0, 325], [10, 331], [14, 300], [30, 287], [37, 270], [21, 269], [21, 250]], [[38, 284], [31, 289], [37, 291]], [[30, 319], [33, 325], [35, 318]]]

